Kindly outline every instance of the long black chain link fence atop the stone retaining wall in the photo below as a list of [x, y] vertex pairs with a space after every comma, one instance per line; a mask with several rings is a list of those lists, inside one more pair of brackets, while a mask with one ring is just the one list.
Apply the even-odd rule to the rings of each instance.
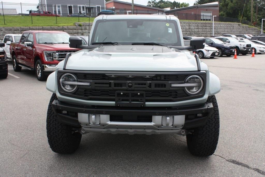
[[[90, 22], [100, 14], [161, 14], [174, 15], [180, 20], [212, 21], [213, 16], [188, 14], [188, 13], [165, 13], [162, 11], [132, 10], [132, 9], [108, 9], [100, 6], [87, 5], [57, 5], [57, 4], [32, 4], [1, 2], [0, 26], [67, 26], [75, 22]], [[214, 17], [217, 22], [237, 22], [239, 19], [227, 17]], [[247, 20], [241, 23], [251, 25]]]

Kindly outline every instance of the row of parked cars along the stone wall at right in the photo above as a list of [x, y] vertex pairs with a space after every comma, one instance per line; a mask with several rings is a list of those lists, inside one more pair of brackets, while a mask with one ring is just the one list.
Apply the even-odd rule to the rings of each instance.
[[[245, 36], [243, 38], [243, 36]], [[260, 39], [263, 36], [252, 36], [252, 35], [231, 35], [224, 34], [223, 36], [214, 36], [205, 38], [205, 48], [198, 50], [197, 54], [200, 58], [214, 58], [215, 56], [231, 56], [235, 53], [246, 55], [248, 53], [265, 53], [265, 43], [259, 40], [249, 39]], [[183, 36], [184, 44], [189, 45], [189, 40], [193, 36]], [[248, 38], [248, 39], [247, 39]], [[264, 36], [265, 38], [265, 36]], [[209, 48], [211, 47], [211, 48]], [[217, 53], [218, 51], [218, 53]]]

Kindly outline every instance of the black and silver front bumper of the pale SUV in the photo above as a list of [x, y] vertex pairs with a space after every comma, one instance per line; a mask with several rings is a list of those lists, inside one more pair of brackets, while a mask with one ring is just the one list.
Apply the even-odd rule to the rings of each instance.
[[[179, 107], [114, 107], [90, 106], [54, 100], [52, 108], [61, 123], [81, 128], [86, 132], [165, 134], [179, 133], [182, 129], [192, 129], [205, 125], [213, 111], [212, 103]], [[200, 117], [197, 115], [200, 114]], [[98, 116], [99, 124], [91, 122], [91, 116]], [[194, 116], [193, 116], [194, 115]], [[123, 117], [122, 121], [112, 121], [112, 117]], [[130, 121], [130, 117], [151, 117], [150, 121]], [[163, 125], [169, 117], [171, 124]], [[126, 121], [125, 121], [126, 120]]]

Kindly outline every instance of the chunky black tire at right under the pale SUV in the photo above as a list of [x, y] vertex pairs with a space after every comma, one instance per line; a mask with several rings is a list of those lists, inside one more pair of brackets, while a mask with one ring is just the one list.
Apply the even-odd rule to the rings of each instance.
[[195, 128], [192, 134], [187, 134], [187, 145], [191, 154], [196, 156], [213, 155], [219, 138], [219, 109], [215, 96], [209, 96], [207, 103], [214, 106], [212, 115], [206, 124]]

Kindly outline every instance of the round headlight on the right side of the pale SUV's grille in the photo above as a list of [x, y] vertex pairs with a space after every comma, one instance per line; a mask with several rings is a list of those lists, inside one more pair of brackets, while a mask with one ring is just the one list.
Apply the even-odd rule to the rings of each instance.
[[198, 94], [202, 88], [203, 88], [203, 81], [202, 78], [198, 75], [191, 75], [189, 76], [185, 83], [192, 83], [194, 86], [189, 86], [185, 87], [185, 90], [188, 92], [190, 95], [196, 95]]

